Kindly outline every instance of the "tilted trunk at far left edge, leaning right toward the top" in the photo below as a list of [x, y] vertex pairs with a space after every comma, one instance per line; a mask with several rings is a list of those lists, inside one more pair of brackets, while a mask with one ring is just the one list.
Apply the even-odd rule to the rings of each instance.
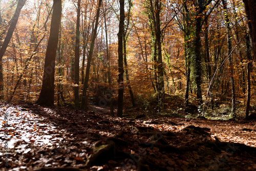
[[[2, 47], [0, 49], [0, 99], [4, 99], [4, 94], [3, 94], [3, 91], [4, 91], [4, 76], [3, 76], [2, 59], [3, 59], [3, 56], [5, 54], [5, 51], [6, 51], [7, 47], [9, 45], [9, 42], [11, 40], [12, 34], [14, 32], [14, 29], [15, 29], [15, 27], [17, 25], [20, 10], [22, 10], [22, 8], [25, 5], [25, 3], [26, 3], [26, 0], [19, 0], [18, 1], [16, 10], [15, 10], [14, 15], [12, 17], [11, 25], [10, 25], [10, 27], [8, 29], [7, 35], [6, 35], [5, 40], [4, 40], [3, 44], [2, 44]], [[1, 17], [1, 19], [2, 19], [2, 17]]]

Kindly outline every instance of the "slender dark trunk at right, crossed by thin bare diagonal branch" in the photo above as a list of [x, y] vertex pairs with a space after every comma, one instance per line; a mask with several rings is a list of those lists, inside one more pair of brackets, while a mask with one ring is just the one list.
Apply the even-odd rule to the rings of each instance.
[[[226, 27], [227, 27], [227, 36], [228, 36], [228, 55], [232, 51], [232, 35], [231, 35], [231, 27], [229, 24], [229, 15], [227, 11], [227, 2], [226, 0], [222, 0], [223, 8], [224, 8], [224, 17], [226, 21]], [[233, 117], [236, 117], [236, 92], [234, 90], [234, 77], [233, 77], [233, 63], [231, 55], [228, 58], [229, 67], [230, 67], [230, 83], [231, 83], [231, 94], [232, 94], [232, 114]]]

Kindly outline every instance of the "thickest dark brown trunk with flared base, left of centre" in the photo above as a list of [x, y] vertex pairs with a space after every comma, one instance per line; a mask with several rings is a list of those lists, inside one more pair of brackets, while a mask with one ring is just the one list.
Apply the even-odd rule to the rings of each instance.
[[51, 21], [50, 36], [48, 40], [46, 59], [44, 67], [44, 76], [42, 79], [42, 88], [36, 101], [41, 105], [54, 105], [54, 74], [55, 58], [58, 47], [59, 25], [61, 19], [61, 0], [53, 0], [53, 13]]

